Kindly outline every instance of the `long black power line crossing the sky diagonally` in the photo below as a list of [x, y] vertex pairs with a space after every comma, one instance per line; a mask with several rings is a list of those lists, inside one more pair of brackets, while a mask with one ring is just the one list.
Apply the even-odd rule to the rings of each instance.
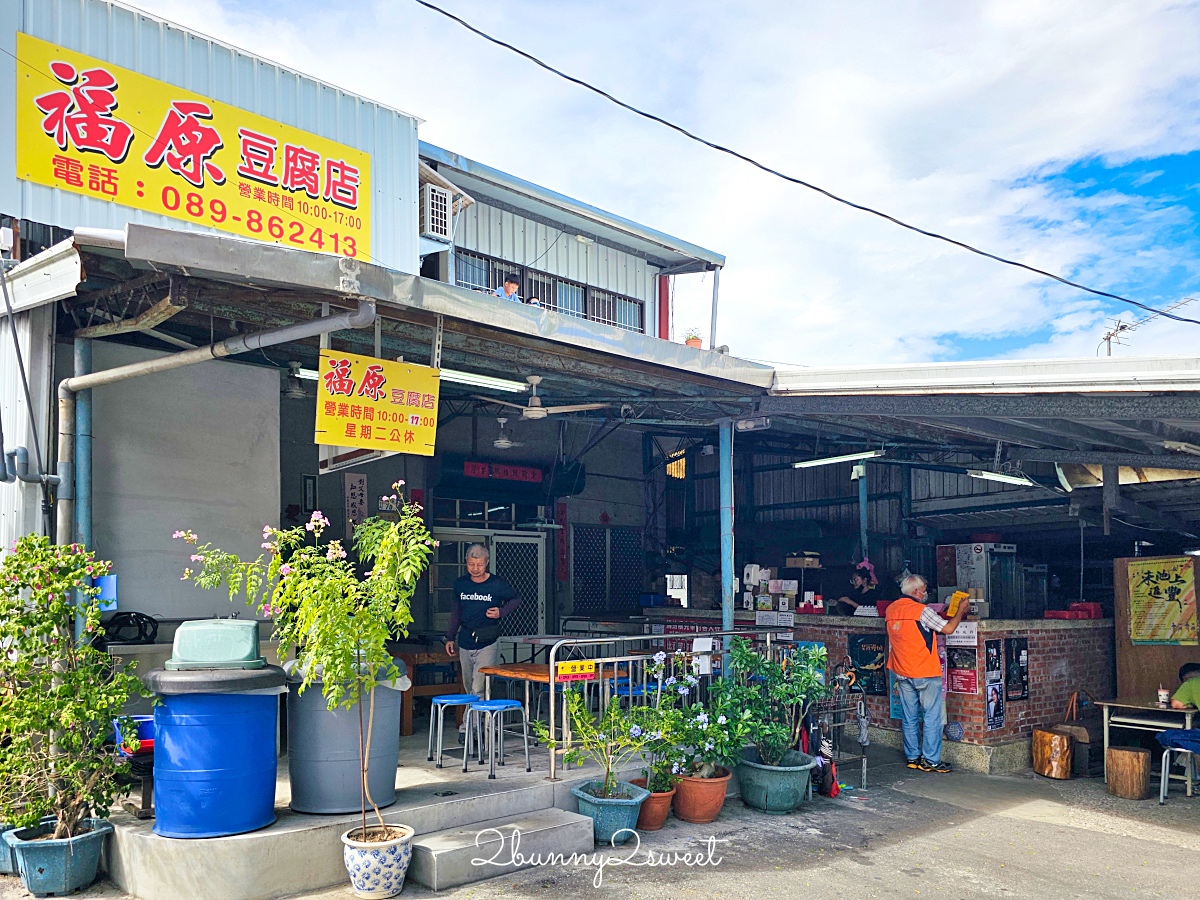
[[1168, 319], [1175, 319], [1176, 322], [1187, 322], [1187, 323], [1190, 323], [1193, 325], [1200, 325], [1200, 319], [1189, 319], [1189, 318], [1187, 318], [1184, 316], [1175, 316], [1175, 314], [1169, 313], [1169, 312], [1166, 312], [1164, 310], [1156, 310], [1153, 306], [1147, 306], [1146, 304], [1140, 302], [1139, 300], [1132, 300], [1132, 299], [1129, 299], [1127, 296], [1121, 296], [1120, 294], [1110, 294], [1106, 290], [1099, 290], [1097, 288], [1090, 288], [1086, 284], [1080, 284], [1076, 281], [1070, 281], [1069, 278], [1064, 278], [1061, 275], [1055, 275], [1054, 272], [1048, 272], [1045, 269], [1038, 269], [1036, 266], [1028, 265], [1026, 263], [1018, 262], [1015, 259], [1008, 259], [1007, 257], [997, 256], [996, 253], [989, 253], [985, 250], [980, 250], [979, 247], [972, 246], [971, 244], [966, 244], [964, 241], [955, 240], [954, 238], [949, 238], [949, 236], [947, 236], [944, 234], [938, 234], [937, 232], [930, 232], [930, 230], [926, 230], [924, 228], [918, 228], [914, 224], [910, 224], [908, 222], [905, 222], [904, 220], [896, 218], [895, 216], [888, 215], [887, 212], [882, 212], [882, 211], [880, 211], [877, 209], [872, 209], [871, 206], [865, 206], [865, 205], [863, 205], [860, 203], [854, 203], [853, 200], [847, 200], [845, 197], [839, 197], [838, 194], [833, 193], [832, 191], [827, 191], [826, 188], [820, 187], [817, 185], [814, 185], [810, 181], [804, 181], [803, 179], [796, 178], [794, 175], [788, 175], [786, 173], [782, 173], [779, 169], [774, 169], [774, 168], [772, 168], [770, 166], [767, 166], [763, 162], [758, 162], [758, 160], [755, 160], [751, 156], [746, 156], [743, 152], [739, 152], [739, 151], [733, 150], [731, 148], [727, 148], [727, 146], [724, 146], [721, 144], [718, 144], [718, 143], [714, 143], [712, 140], [708, 140], [706, 138], [702, 138], [698, 134], [696, 134], [696, 133], [694, 133], [691, 131], [688, 131], [682, 125], [676, 125], [674, 122], [668, 121], [668, 120], [664, 119], [662, 116], [655, 115], [654, 113], [647, 113], [644, 109], [638, 109], [637, 107], [635, 107], [635, 106], [632, 106], [630, 103], [626, 103], [623, 100], [618, 100], [612, 94], [608, 94], [608, 91], [602, 90], [600, 88], [596, 88], [594, 84], [589, 84], [588, 82], [584, 82], [581, 78], [576, 78], [575, 76], [570, 76], [566, 72], [563, 72], [562, 70], [554, 68], [548, 62], [544, 62], [542, 60], [540, 60], [536, 56], [534, 56], [532, 53], [527, 53], [526, 50], [522, 50], [520, 47], [515, 47], [511, 43], [508, 43], [506, 41], [502, 41], [498, 37], [493, 37], [492, 35], [487, 34], [486, 31], [482, 31], [482, 30], [475, 28], [469, 22], [460, 18], [458, 16], [455, 16], [452, 12], [449, 12], [446, 10], [443, 10], [440, 6], [436, 6], [434, 4], [428, 2], [428, 0], [415, 0], [415, 2], [420, 4], [421, 6], [424, 6], [427, 10], [432, 10], [436, 13], [445, 16], [448, 19], [450, 19], [452, 22], [458, 23], [460, 25], [462, 25], [468, 31], [472, 31], [473, 34], [479, 35], [480, 37], [482, 37], [485, 41], [490, 41], [491, 43], [494, 43], [498, 47], [503, 47], [503, 48], [505, 48], [508, 50], [511, 50], [512, 53], [517, 54], [518, 56], [523, 56], [524, 59], [529, 60], [534, 65], [540, 66], [541, 68], [545, 68], [547, 72], [552, 72], [553, 74], [557, 74], [559, 78], [563, 78], [563, 79], [570, 82], [571, 84], [577, 84], [578, 86], [581, 86], [581, 88], [583, 88], [586, 90], [589, 90], [593, 94], [598, 94], [601, 97], [604, 97], [605, 100], [611, 101], [612, 103], [616, 103], [617, 106], [619, 106], [623, 109], [628, 109], [630, 113], [634, 113], [635, 115], [640, 115], [643, 119], [649, 119], [653, 122], [658, 122], [659, 125], [664, 125], [667, 128], [671, 128], [672, 131], [679, 132], [685, 138], [688, 138], [690, 140], [695, 140], [698, 144], [703, 144], [704, 146], [707, 146], [707, 148], [709, 148], [712, 150], [716, 150], [718, 152], [727, 154], [728, 156], [732, 156], [734, 158], [742, 160], [743, 162], [748, 162], [748, 163], [750, 163], [751, 166], [754, 166], [757, 169], [762, 169], [763, 172], [766, 172], [766, 173], [768, 173], [770, 175], [775, 175], [776, 178], [781, 178], [784, 181], [790, 181], [793, 185], [799, 185], [800, 187], [806, 187], [810, 191], [816, 191], [817, 193], [828, 197], [830, 200], [836, 200], [838, 203], [845, 204], [846, 206], [850, 206], [851, 209], [857, 209], [860, 212], [869, 212], [872, 216], [878, 216], [880, 218], [883, 218], [883, 220], [887, 220], [888, 222], [892, 222], [892, 224], [900, 226], [901, 228], [907, 228], [910, 232], [916, 232], [917, 234], [922, 234], [922, 235], [924, 235], [926, 238], [932, 238], [934, 240], [944, 241], [946, 244], [953, 244], [955, 247], [960, 247], [961, 250], [966, 250], [966, 251], [968, 251], [971, 253], [976, 253], [978, 256], [986, 257], [988, 259], [992, 259], [992, 260], [995, 260], [997, 263], [1003, 263], [1004, 265], [1012, 265], [1012, 266], [1014, 266], [1016, 269], [1024, 269], [1026, 271], [1033, 272], [1034, 275], [1042, 275], [1043, 277], [1051, 278], [1052, 281], [1057, 281], [1058, 283], [1066, 284], [1067, 287], [1076, 288], [1079, 290], [1085, 290], [1088, 294], [1094, 294], [1097, 296], [1106, 296], [1110, 300], [1120, 300], [1122, 304], [1129, 304], [1130, 306], [1136, 306], [1140, 310], [1145, 310], [1146, 312], [1157, 313], [1158, 316], [1163, 316], [1163, 317], [1165, 317]]

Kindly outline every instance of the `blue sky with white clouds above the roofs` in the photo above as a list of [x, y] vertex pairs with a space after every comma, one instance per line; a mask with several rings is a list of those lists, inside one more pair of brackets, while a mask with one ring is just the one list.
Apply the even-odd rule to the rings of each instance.
[[[836, 206], [412, 0], [132, 0], [419, 115], [421, 137], [722, 252], [719, 342], [797, 365], [1093, 355], [1122, 305]], [[914, 224], [1200, 296], [1200, 2], [444, 0], [618, 96]], [[510, 122], [517, 122], [512, 127]], [[677, 278], [677, 332], [710, 282]], [[1182, 314], [1200, 319], [1200, 300]], [[1194, 353], [1154, 322], [1118, 354]]]

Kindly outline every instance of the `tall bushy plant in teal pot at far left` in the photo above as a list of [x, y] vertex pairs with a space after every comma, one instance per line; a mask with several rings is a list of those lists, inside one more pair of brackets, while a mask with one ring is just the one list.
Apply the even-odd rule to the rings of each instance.
[[114, 719], [136, 733], [121, 709], [148, 694], [132, 666], [115, 667], [86, 640], [100, 631], [91, 580], [109, 568], [79, 544], [38, 535], [0, 563], [0, 821], [36, 896], [95, 881], [113, 829], [104, 816], [128, 769], [108, 738]]

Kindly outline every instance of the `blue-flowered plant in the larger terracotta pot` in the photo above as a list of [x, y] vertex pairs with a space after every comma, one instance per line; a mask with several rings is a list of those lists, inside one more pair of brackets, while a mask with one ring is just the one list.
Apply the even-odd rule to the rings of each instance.
[[[662, 684], [682, 704], [696, 696], [700, 679], [688, 673]], [[680, 706], [672, 767], [678, 786], [672, 809], [684, 822], [704, 824], [720, 815], [732, 768], [742, 758], [749, 716], [724, 682], [713, 683], [708, 703]]]

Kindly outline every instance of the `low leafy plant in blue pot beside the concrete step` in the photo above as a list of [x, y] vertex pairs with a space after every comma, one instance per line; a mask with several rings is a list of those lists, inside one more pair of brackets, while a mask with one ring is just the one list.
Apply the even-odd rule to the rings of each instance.
[[[650, 738], [637, 721], [634, 710], [620, 707], [613, 697], [599, 719], [592, 714], [583, 692], [566, 691], [566, 714], [570, 720], [571, 742], [563, 761], [582, 766], [592, 760], [604, 770], [600, 781], [589, 781], [571, 788], [578, 802], [580, 815], [589, 816], [595, 840], [602, 844], [624, 844], [634, 835], [642, 800], [649, 791], [629, 781], [620, 781], [620, 770], [642, 757]], [[534, 722], [538, 739], [556, 752], [560, 742], [554, 739], [545, 722]]]

